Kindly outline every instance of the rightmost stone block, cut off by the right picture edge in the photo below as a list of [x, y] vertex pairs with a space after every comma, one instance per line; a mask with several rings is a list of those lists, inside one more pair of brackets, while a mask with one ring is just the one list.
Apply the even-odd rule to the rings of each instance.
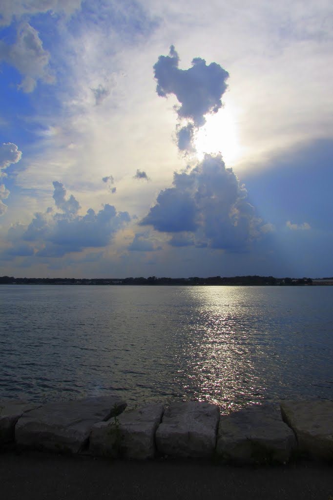
[[296, 434], [300, 452], [333, 460], [333, 400], [285, 400], [281, 413]]

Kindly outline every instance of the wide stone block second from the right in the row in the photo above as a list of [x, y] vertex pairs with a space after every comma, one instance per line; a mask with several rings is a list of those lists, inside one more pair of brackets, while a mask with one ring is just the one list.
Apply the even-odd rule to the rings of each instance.
[[292, 430], [270, 405], [254, 405], [221, 416], [216, 453], [239, 463], [284, 463], [296, 446]]

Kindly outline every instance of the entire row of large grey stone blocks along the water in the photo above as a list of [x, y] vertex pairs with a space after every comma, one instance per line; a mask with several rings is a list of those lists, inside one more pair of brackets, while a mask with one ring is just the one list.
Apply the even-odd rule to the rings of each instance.
[[219, 458], [221, 463], [333, 462], [333, 400], [284, 400], [228, 415], [207, 402], [124, 411], [118, 396], [30, 403], [0, 400], [0, 449], [33, 448], [111, 458]]

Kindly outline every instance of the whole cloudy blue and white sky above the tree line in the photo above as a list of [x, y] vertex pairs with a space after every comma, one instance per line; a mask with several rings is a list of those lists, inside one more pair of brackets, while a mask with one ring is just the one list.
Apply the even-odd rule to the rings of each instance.
[[333, 274], [333, 6], [2, 0], [0, 275]]

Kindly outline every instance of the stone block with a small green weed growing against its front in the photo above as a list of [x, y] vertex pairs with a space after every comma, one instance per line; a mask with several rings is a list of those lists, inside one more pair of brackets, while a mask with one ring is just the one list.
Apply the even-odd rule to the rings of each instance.
[[155, 454], [154, 435], [163, 413], [162, 404], [122, 413], [93, 425], [89, 451], [93, 455], [143, 460]]

